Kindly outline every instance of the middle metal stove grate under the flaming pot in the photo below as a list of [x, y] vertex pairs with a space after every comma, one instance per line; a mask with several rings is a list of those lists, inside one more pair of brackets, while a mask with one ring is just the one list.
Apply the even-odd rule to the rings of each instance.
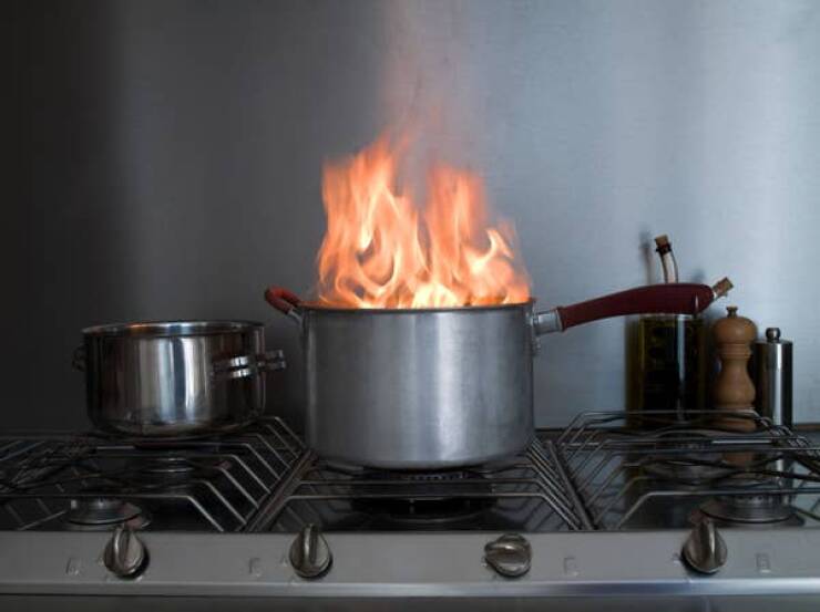
[[[373, 473], [312, 454], [270, 500], [258, 530], [523, 531], [588, 528], [550, 443], [534, 440], [513, 460], [455, 473]], [[585, 522], [586, 521], [586, 522]]]

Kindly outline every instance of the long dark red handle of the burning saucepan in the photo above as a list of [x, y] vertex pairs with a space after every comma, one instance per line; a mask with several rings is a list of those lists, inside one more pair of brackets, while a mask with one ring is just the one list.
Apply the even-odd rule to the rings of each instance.
[[586, 302], [537, 312], [533, 319], [533, 328], [541, 335], [624, 314], [697, 314], [716, 299], [726, 295], [731, 287], [726, 278], [714, 287], [689, 282], [637, 287]]

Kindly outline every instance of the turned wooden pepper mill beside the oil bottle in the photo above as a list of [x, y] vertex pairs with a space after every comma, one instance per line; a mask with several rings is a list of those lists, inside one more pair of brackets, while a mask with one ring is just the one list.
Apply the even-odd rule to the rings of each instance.
[[[719, 411], [752, 413], [755, 385], [747, 370], [751, 356], [751, 343], [757, 338], [757, 329], [746, 317], [737, 315], [737, 307], [728, 307], [728, 314], [714, 326], [715, 343], [720, 359], [720, 373], [713, 390], [715, 407]], [[755, 421], [731, 418], [720, 415], [716, 425], [737, 432], [754, 432]]]

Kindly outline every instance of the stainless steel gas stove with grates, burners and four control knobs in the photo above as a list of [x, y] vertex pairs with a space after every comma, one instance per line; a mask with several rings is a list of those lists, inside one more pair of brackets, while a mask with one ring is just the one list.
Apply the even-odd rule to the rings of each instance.
[[818, 605], [820, 446], [715, 415], [586, 413], [517, 457], [433, 473], [325, 460], [278, 418], [3, 436], [0, 593]]

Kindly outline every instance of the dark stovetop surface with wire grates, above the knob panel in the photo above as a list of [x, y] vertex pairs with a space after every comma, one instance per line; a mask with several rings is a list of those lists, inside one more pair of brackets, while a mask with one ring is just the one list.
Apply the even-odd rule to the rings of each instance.
[[[756, 415], [586, 413], [439, 473], [316, 457], [279, 418], [198, 439], [0, 438], [0, 530], [609, 531], [820, 526], [820, 447]], [[646, 428], [652, 426], [653, 428]]]

